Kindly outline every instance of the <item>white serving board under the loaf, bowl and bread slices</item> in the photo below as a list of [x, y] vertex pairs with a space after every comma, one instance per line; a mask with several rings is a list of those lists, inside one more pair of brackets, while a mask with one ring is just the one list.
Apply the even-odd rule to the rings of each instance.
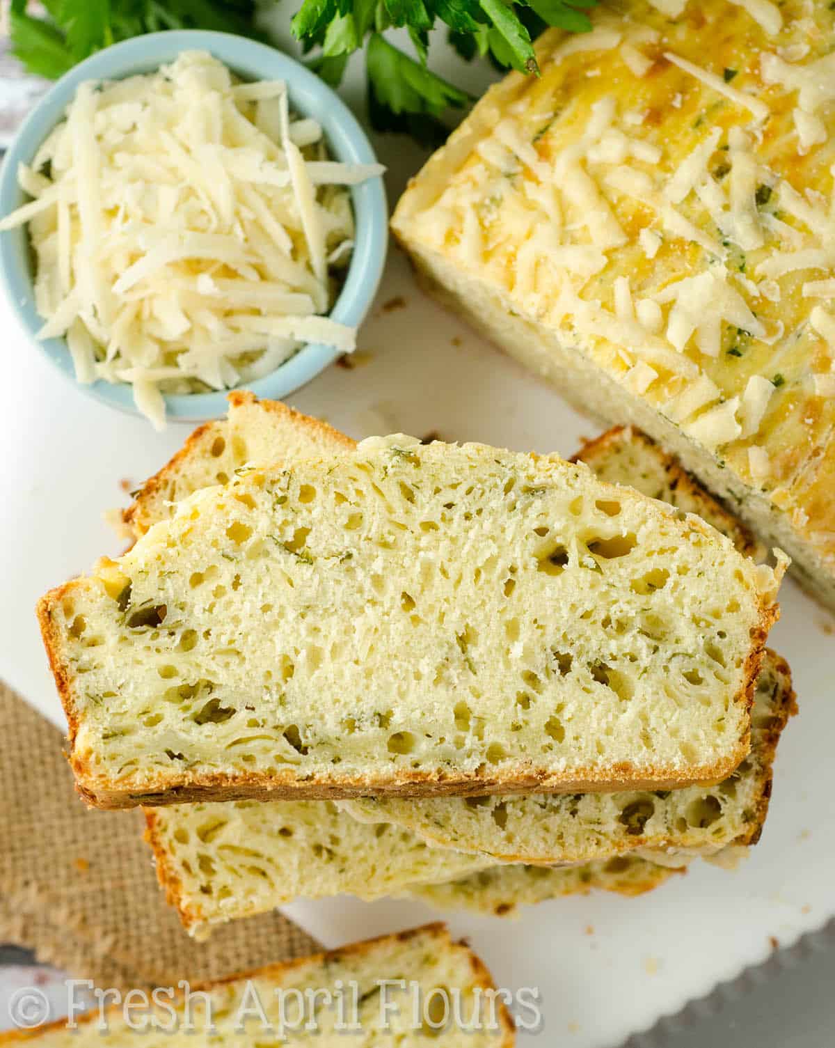
[[[348, 95], [356, 100], [359, 68], [353, 73]], [[392, 168], [394, 200], [421, 154], [398, 138], [378, 146]], [[404, 304], [386, 308], [397, 297]], [[118, 551], [103, 511], [124, 504], [122, 487], [157, 470], [189, 428], [172, 424], [158, 435], [82, 395], [32, 350], [4, 304], [0, 336], [8, 368], [0, 403], [0, 676], [63, 726], [35, 602]], [[437, 431], [568, 455], [581, 434], [594, 435], [555, 393], [424, 299], [396, 252], [359, 342], [368, 363], [331, 368], [293, 398], [352, 436]], [[781, 746], [763, 842], [738, 872], [696, 864], [643, 898], [556, 900], [519, 921], [453, 916], [454, 931], [471, 939], [501, 985], [539, 987], [544, 1028], [522, 1043], [615, 1045], [762, 962], [774, 941], [793, 943], [835, 916], [831, 619], [791, 584], [783, 609], [772, 642], [792, 664], [803, 715]], [[287, 913], [328, 945], [436, 916], [417, 903], [349, 898], [300, 901]]]

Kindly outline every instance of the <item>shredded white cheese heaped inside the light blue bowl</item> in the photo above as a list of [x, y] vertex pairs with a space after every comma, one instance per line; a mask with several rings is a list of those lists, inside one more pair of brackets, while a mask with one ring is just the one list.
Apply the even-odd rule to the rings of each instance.
[[161, 428], [162, 394], [254, 381], [307, 341], [354, 349], [322, 314], [353, 246], [346, 187], [382, 170], [331, 160], [282, 81], [186, 51], [80, 85], [0, 230], [28, 223], [39, 336], [66, 336], [79, 381], [131, 384]]

